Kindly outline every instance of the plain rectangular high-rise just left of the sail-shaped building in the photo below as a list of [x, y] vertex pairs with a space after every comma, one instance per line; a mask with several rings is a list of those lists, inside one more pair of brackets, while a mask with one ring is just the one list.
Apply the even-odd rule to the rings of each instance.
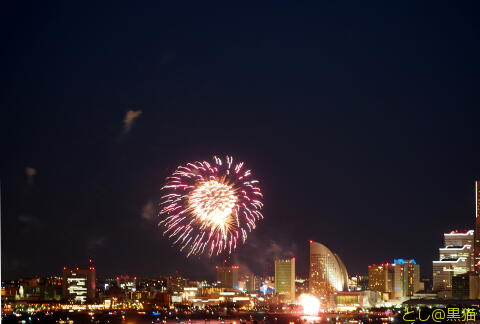
[[275, 292], [286, 302], [295, 301], [295, 258], [275, 260]]

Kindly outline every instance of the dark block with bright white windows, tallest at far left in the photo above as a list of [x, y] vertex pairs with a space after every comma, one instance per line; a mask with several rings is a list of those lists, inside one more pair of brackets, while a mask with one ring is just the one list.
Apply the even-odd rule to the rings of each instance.
[[89, 260], [87, 269], [63, 268], [63, 299], [73, 303], [85, 303], [95, 299], [96, 272]]

